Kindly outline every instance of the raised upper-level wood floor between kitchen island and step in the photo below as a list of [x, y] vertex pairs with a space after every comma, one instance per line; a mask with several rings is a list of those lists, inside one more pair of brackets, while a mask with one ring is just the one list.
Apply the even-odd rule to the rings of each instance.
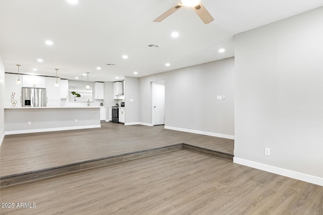
[[1, 177], [181, 143], [233, 155], [232, 139], [102, 122], [101, 128], [6, 135]]

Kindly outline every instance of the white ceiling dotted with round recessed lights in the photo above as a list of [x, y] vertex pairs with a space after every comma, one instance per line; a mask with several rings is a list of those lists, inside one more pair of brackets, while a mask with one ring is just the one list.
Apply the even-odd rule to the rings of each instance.
[[[56, 76], [58, 68], [59, 77], [72, 80], [86, 72], [90, 81], [147, 76], [234, 56], [235, 34], [323, 6], [323, 0], [201, 2], [214, 18], [210, 24], [185, 7], [152, 22], [180, 0], [0, 0], [5, 71], [17, 73], [21, 64], [22, 74]], [[160, 47], [148, 48], [151, 43]]]

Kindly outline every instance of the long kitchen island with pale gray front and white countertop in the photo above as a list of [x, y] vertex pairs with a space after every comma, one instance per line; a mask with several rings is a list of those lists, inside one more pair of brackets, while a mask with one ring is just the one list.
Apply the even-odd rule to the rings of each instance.
[[100, 107], [5, 108], [5, 134], [96, 128]]

